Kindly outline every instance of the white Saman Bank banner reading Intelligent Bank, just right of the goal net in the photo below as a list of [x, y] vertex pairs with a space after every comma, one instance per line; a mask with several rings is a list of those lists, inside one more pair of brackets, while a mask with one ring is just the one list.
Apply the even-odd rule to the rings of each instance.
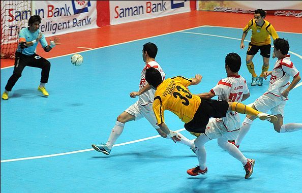
[[48, 36], [97, 28], [97, 1], [35, 1], [40, 30]]

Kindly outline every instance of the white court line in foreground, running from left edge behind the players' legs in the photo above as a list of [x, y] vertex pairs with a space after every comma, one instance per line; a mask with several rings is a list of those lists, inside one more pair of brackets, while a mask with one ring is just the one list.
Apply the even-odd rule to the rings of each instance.
[[[185, 128], [181, 128], [180, 130], [177, 130], [176, 132], [182, 132], [184, 130], [185, 130]], [[125, 143], [116, 144], [116, 145], [113, 145], [113, 147], [128, 145], [128, 144], [131, 144], [131, 143], [137, 143], [137, 142], [146, 141], [146, 140], [150, 140], [150, 139], [155, 139], [155, 138], [159, 138], [159, 137], [161, 137], [161, 136], [156, 135], [156, 136], [152, 136], [152, 137], [147, 137], [147, 138], [143, 138], [143, 139], [138, 139], [138, 140], [134, 140], [134, 141], [129, 141], [129, 142], [125, 142]], [[56, 153], [56, 154], [50, 154], [50, 155], [41, 155], [41, 156], [34, 156], [34, 157], [23, 157], [23, 158], [15, 158], [15, 159], [5, 159], [5, 160], [1, 160], [1, 163], [16, 162], [16, 161], [28, 160], [28, 159], [39, 159], [39, 158], [44, 158], [44, 157], [54, 157], [54, 156], [68, 155], [68, 154], [73, 154], [73, 153], [81, 153], [81, 152], [92, 151], [92, 150], [94, 150], [94, 149], [90, 148], [90, 149], [70, 151], [70, 152], [65, 152], [65, 153]]]

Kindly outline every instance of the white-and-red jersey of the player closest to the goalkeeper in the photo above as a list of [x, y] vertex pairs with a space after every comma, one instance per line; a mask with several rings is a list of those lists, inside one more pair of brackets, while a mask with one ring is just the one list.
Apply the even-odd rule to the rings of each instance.
[[[147, 84], [145, 75], [146, 75], [146, 70], [150, 67], [157, 69], [161, 73], [163, 80], [165, 80], [166, 74], [164, 73], [164, 71], [163, 71], [162, 67], [159, 65], [159, 63], [157, 63], [157, 61], [155, 61], [155, 60], [149, 61], [148, 63], [146, 63], [145, 67], [143, 68], [143, 70], [141, 72], [139, 90], [143, 89]], [[143, 106], [145, 106], [149, 103], [153, 103], [154, 94], [155, 94], [154, 89], [150, 89], [150, 90], [142, 93], [141, 95], [139, 95], [138, 103]]]

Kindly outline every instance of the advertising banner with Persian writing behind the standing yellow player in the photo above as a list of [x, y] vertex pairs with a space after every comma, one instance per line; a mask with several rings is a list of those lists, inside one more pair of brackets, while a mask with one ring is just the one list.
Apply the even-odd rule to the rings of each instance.
[[266, 14], [302, 17], [302, 1], [198, 1], [198, 10], [229, 13], [254, 13], [263, 9]]

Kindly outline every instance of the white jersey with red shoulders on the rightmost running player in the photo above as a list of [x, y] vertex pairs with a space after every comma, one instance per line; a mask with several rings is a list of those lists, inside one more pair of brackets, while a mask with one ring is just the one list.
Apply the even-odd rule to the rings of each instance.
[[275, 63], [274, 69], [270, 75], [269, 86], [264, 94], [273, 94], [282, 100], [288, 100], [281, 94], [290, 84], [290, 77], [299, 75], [299, 71], [290, 60], [290, 55], [283, 59], [278, 59]]

